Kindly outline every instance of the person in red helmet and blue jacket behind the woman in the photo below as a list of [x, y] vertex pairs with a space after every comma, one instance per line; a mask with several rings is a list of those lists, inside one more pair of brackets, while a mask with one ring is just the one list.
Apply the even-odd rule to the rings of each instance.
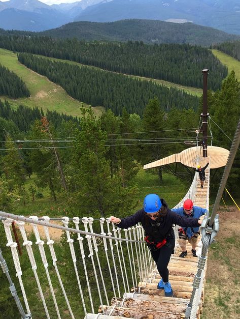
[[[205, 213], [208, 212], [207, 209], [194, 206], [191, 199], [186, 199], [183, 203], [183, 207], [173, 208], [173, 212], [190, 218], [200, 218]], [[184, 227], [181, 225], [181, 228], [178, 229], [179, 233], [179, 245], [182, 248], [182, 252], [179, 257], [186, 257], [187, 256], [187, 249], [186, 243], [187, 241], [192, 245], [192, 255], [193, 257], [197, 257], [196, 255], [196, 245], [197, 245], [197, 238], [200, 235], [199, 226], [198, 227]]]

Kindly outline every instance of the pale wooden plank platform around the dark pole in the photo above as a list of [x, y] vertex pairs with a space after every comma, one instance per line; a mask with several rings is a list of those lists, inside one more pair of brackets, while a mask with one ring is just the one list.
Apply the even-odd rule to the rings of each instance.
[[227, 163], [227, 158], [229, 151], [217, 146], [208, 147], [208, 157], [202, 157], [202, 148], [193, 147], [182, 151], [181, 153], [173, 154], [167, 157], [164, 157], [155, 162], [144, 165], [144, 169], [163, 166], [172, 163], [182, 163], [183, 165], [189, 167], [196, 167], [197, 159], [199, 159], [199, 165], [202, 167], [205, 166], [210, 160], [210, 168], [219, 168], [225, 166]]

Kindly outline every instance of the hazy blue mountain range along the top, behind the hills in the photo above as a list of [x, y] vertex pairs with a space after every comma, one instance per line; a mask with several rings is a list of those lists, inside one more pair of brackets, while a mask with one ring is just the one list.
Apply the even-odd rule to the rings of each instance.
[[44, 31], [73, 21], [151, 19], [192, 22], [240, 35], [239, 0], [82, 0], [46, 5], [38, 0], [0, 1], [0, 27]]

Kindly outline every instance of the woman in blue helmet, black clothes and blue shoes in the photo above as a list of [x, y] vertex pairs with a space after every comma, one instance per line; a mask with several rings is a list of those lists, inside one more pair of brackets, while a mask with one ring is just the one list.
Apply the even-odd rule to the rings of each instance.
[[142, 223], [145, 230], [145, 241], [162, 278], [157, 288], [164, 289], [166, 297], [173, 297], [173, 288], [168, 281], [169, 272], [167, 269], [175, 246], [173, 224], [184, 227], [199, 227], [201, 220], [178, 215], [171, 211], [165, 200], [160, 199], [157, 194], [148, 194], [144, 198], [141, 210], [125, 218], [111, 216], [110, 221], [120, 228], [128, 228], [139, 222]]

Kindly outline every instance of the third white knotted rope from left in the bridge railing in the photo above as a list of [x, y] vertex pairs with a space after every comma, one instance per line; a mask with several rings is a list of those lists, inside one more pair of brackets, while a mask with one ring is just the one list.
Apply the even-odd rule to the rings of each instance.
[[[37, 221], [38, 217], [30, 216], [29, 219]], [[44, 241], [42, 241], [40, 239], [38, 226], [35, 225], [35, 224], [32, 224], [32, 229], [33, 229], [33, 233], [35, 234], [35, 237], [36, 237], [36, 240], [37, 240], [36, 241], [36, 245], [38, 245], [38, 247], [39, 247], [39, 252], [40, 252], [40, 255], [41, 255], [42, 263], [43, 263], [43, 266], [44, 266], [44, 269], [45, 269], [45, 272], [46, 272], [46, 275], [47, 275], [47, 279], [48, 279], [50, 291], [51, 291], [51, 294], [52, 294], [54, 306], [55, 306], [55, 309], [56, 309], [56, 312], [57, 312], [57, 317], [58, 317], [58, 319], [61, 319], [60, 312], [59, 312], [58, 305], [57, 305], [57, 301], [56, 301], [56, 297], [55, 297], [55, 293], [54, 293], [54, 289], [53, 289], [53, 286], [52, 286], [52, 281], [51, 281], [51, 278], [50, 278], [50, 275], [49, 275], [49, 271], [48, 271], [47, 258], [46, 258], [45, 250], [44, 250], [44, 247], [43, 247]]]

